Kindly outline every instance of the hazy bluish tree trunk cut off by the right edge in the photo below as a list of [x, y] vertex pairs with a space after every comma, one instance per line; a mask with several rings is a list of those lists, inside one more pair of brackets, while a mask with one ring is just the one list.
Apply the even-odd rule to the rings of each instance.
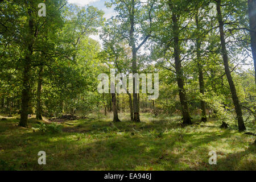
[[256, 0], [248, 0], [250, 35], [251, 35], [251, 51], [253, 52], [254, 76], [256, 84]]

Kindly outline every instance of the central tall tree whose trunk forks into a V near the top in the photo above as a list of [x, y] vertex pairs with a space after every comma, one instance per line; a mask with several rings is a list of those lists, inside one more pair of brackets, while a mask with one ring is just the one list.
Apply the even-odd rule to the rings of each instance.
[[[138, 72], [137, 69], [137, 53], [139, 49], [147, 42], [151, 34], [151, 14], [155, 1], [147, 1], [142, 3], [139, 0], [113, 0], [112, 3], [107, 3], [108, 6], [115, 5], [115, 11], [118, 15], [115, 19], [119, 23], [119, 34], [122, 34], [123, 39], [129, 42], [132, 50], [132, 68], [133, 74]], [[147, 22], [143, 24], [142, 22]], [[149, 26], [148, 26], [149, 25]], [[142, 37], [140, 38], [140, 34]], [[138, 39], [142, 39], [138, 44]], [[139, 101], [138, 94], [135, 93], [135, 78], [133, 79], [133, 120], [141, 122], [139, 118]]]

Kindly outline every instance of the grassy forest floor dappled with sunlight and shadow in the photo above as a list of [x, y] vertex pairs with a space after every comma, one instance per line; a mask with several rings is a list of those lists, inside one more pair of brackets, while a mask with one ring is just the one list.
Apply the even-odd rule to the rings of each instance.
[[[61, 133], [34, 132], [36, 119], [28, 128], [15, 118], [0, 120], [0, 170], [256, 169], [255, 137], [239, 133], [234, 121], [220, 129], [221, 119], [195, 117], [197, 124], [182, 128], [179, 116], [141, 114], [141, 123], [128, 122], [125, 113], [119, 118], [66, 121]], [[246, 127], [255, 133], [255, 121]], [[39, 151], [46, 151], [46, 165], [38, 164]], [[209, 164], [209, 151], [216, 151], [216, 165]]]

